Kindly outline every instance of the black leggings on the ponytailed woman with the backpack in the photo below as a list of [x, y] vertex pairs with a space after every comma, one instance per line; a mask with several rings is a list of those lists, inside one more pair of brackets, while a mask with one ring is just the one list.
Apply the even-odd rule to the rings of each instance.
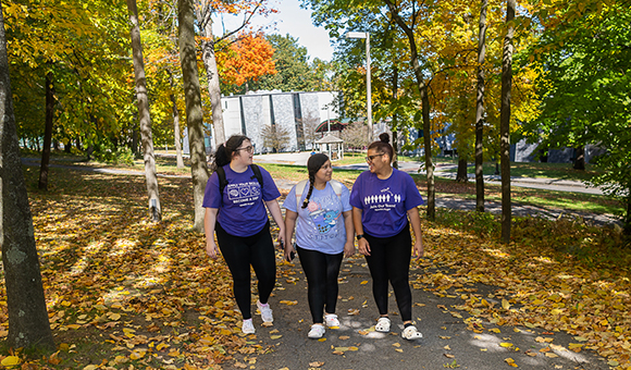
[[234, 236], [215, 224], [216, 240], [227, 263], [234, 283], [234, 296], [244, 320], [252, 317], [250, 312], [250, 264], [259, 280], [259, 300], [267, 304], [276, 284], [276, 260], [274, 243], [270, 234], [270, 223], [252, 236]]

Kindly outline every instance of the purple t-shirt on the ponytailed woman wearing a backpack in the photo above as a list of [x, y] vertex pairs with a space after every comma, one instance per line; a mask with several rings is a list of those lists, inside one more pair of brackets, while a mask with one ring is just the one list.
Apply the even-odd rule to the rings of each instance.
[[[262, 200], [274, 200], [281, 196], [274, 180], [265, 169]], [[261, 200], [261, 185], [251, 168], [243, 173], [234, 172], [230, 164], [223, 166], [227, 185], [219, 194], [219, 175], [214, 172], [206, 184], [203, 203], [206, 208], [219, 208], [216, 221], [221, 227], [234, 236], [251, 236], [260, 232], [268, 222], [268, 211]]]

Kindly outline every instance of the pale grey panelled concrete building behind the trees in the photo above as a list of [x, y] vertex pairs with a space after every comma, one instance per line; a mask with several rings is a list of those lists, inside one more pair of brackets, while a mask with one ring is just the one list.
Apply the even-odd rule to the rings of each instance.
[[[307, 125], [318, 126], [326, 120], [337, 120], [336, 91], [282, 92], [280, 90], [250, 91], [247, 95], [221, 98], [225, 138], [243, 134], [252, 140], [256, 153], [270, 150], [263, 146], [262, 130], [277, 125], [289, 132], [289, 144], [285, 151], [310, 150], [306, 144]], [[210, 133], [205, 139], [206, 151], [214, 151], [221, 143], [214, 141], [214, 127], [207, 125]], [[186, 136], [186, 133], [185, 133]], [[183, 151], [189, 152], [188, 138], [184, 138]]]

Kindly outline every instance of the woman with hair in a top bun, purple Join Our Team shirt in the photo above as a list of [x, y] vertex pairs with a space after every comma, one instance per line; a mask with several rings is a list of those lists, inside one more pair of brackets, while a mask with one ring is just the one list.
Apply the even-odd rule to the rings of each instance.
[[412, 177], [392, 166], [394, 150], [388, 134], [379, 138], [368, 147], [369, 171], [362, 172], [352, 185], [352, 222], [359, 252], [366, 256], [372, 276], [372, 293], [380, 313], [375, 331], [387, 333], [391, 329], [389, 282], [404, 323], [401, 336], [416, 340], [423, 335], [412, 324], [410, 224], [416, 236], [413, 254], [420, 259], [423, 242], [418, 206], [423, 199]]

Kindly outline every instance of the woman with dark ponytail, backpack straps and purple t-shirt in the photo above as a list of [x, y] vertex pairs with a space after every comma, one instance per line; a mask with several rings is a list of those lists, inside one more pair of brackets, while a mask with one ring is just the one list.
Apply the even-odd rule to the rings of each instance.
[[[274, 244], [265, 206], [280, 227], [281, 245], [285, 224], [277, 198], [281, 193], [263, 168], [252, 164], [253, 148], [244, 135], [233, 135], [216, 148], [213, 173], [206, 185], [206, 252], [218, 258], [218, 248], [232, 273], [234, 295], [243, 314], [242, 331], [255, 333], [250, 311], [250, 266], [258, 279], [257, 307], [263, 322], [272, 322], [268, 298], [276, 283]], [[223, 177], [223, 178], [222, 178]], [[223, 182], [223, 183], [222, 183]]]

